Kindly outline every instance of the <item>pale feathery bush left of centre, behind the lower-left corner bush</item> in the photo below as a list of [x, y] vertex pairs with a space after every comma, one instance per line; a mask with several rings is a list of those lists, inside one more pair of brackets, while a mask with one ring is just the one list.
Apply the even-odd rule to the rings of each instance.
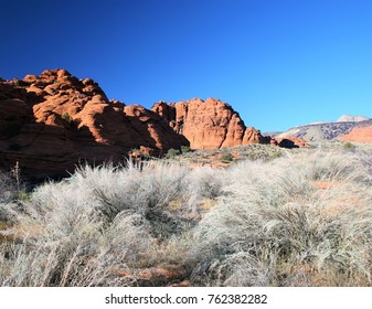
[[183, 222], [167, 209], [169, 203], [183, 199], [187, 169], [177, 164], [147, 162], [126, 167], [84, 167], [78, 170], [73, 182], [82, 191], [91, 192], [102, 207], [107, 221], [120, 212], [140, 214], [152, 225], [152, 234], [168, 237], [182, 228]]

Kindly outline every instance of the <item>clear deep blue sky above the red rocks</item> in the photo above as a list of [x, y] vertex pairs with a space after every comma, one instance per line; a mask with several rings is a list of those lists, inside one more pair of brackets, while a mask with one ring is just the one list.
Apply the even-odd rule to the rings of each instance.
[[372, 0], [0, 0], [0, 76], [62, 67], [109, 98], [215, 97], [247, 126], [372, 117]]

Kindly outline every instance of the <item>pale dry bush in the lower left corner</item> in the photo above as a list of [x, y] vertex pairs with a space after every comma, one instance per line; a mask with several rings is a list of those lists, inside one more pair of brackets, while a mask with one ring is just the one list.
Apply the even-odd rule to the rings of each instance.
[[[13, 244], [3, 244], [1, 286], [100, 286], [120, 283], [110, 267], [125, 265], [126, 247], [113, 251], [97, 202], [67, 182], [40, 187], [23, 203]], [[26, 228], [24, 228], [26, 227]]]

